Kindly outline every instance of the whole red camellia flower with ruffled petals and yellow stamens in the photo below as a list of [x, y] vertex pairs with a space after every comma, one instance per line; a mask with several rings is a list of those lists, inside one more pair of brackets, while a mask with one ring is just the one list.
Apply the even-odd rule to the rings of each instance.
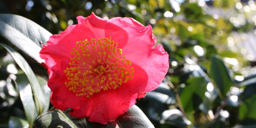
[[75, 117], [107, 124], [137, 98], [156, 89], [169, 68], [168, 54], [156, 43], [152, 27], [132, 18], [105, 20], [78, 16], [52, 35], [40, 57], [48, 68], [51, 103]]

